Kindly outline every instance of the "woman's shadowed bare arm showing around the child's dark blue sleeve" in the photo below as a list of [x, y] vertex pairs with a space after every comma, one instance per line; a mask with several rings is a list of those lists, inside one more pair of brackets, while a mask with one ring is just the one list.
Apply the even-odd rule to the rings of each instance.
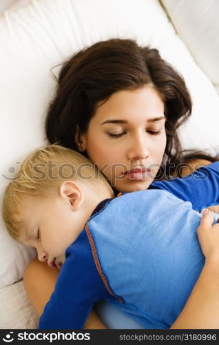
[[[58, 275], [59, 270], [50, 268], [47, 264], [39, 262], [37, 258], [33, 259], [25, 269], [23, 277], [25, 290], [39, 316], [43, 313], [44, 306], [52, 295]], [[105, 329], [107, 327], [93, 310], [87, 318], [84, 328]]]

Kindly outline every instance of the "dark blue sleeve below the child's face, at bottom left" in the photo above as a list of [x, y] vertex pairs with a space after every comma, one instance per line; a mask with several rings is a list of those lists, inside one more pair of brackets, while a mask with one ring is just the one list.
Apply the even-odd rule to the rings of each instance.
[[65, 257], [39, 329], [81, 329], [94, 302], [112, 298], [96, 269], [85, 230], [67, 248]]

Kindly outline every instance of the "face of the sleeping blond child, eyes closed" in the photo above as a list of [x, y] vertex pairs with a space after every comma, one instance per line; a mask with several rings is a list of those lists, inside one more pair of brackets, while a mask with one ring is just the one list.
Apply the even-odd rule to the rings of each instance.
[[36, 248], [38, 258], [50, 267], [61, 268], [65, 250], [78, 237], [76, 215], [72, 205], [61, 197], [32, 197], [21, 199], [21, 235], [18, 240]]

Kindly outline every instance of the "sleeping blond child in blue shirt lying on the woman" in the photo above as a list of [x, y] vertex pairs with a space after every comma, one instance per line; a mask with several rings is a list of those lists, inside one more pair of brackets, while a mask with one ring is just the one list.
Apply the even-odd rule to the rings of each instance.
[[101, 299], [145, 328], [169, 328], [205, 263], [196, 210], [219, 204], [218, 186], [216, 162], [114, 198], [78, 152], [52, 145], [30, 155], [6, 189], [3, 219], [39, 260], [63, 265], [39, 328], [83, 328]]

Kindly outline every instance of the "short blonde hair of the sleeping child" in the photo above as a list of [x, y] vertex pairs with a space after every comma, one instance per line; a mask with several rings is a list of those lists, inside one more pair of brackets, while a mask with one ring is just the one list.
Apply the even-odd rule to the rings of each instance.
[[2, 214], [8, 233], [19, 237], [22, 195], [45, 197], [56, 191], [65, 180], [81, 179], [97, 193], [100, 184], [111, 190], [110, 184], [92, 162], [79, 152], [56, 144], [34, 150], [26, 157], [3, 197]]

